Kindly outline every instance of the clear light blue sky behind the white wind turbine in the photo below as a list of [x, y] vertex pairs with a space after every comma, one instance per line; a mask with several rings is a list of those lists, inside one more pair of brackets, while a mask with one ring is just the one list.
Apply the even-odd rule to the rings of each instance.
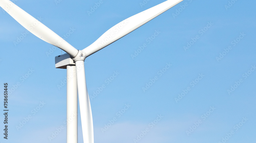
[[[103, 0], [89, 15], [98, 2], [17, 0], [15, 4], [81, 50], [115, 24], [164, 0], [145, 5], [140, 4], [143, 0]], [[254, 142], [255, 4], [184, 0], [89, 56], [85, 63], [89, 95], [106, 86], [91, 98], [95, 143]], [[65, 81], [66, 70], [55, 68], [55, 56], [64, 52], [24, 34], [26, 29], [2, 8], [0, 21], [1, 91], [6, 82], [9, 90], [16, 87], [8, 96], [9, 139], [2, 135], [1, 141], [65, 142], [66, 84], [57, 85]], [[136, 57], [135, 51], [140, 52]], [[112, 78], [114, 72], [119, 74]], [[102, 132], [113, 118], [117, 120]], [[56, 128], [62, 129], [50, 140]], [[78, 139], [83, 142], [80, 115]]]

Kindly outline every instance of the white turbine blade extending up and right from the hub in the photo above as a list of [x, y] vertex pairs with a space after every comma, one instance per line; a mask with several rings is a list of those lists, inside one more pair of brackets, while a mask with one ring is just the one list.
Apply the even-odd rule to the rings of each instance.
[[83, 49], [86, 53], [86, 57], [91, 54], [101, 50], [102, 48], [110, 45], [116, 40], [122, 38], [123, 36], [134, 31], [138, 27], [144, 25], [148, 21], [154, 19], [155, 17], [161, 15], [166, 10], [172, 8], [183, 0], [168, 0], [159, 5], [156, 5], [150, 9], [142, 11], [130, 18], [125, 19], [124, 21], [116, 24], [108, 31], [106, 31], [99, 39], [92, 43], [87, 48]]

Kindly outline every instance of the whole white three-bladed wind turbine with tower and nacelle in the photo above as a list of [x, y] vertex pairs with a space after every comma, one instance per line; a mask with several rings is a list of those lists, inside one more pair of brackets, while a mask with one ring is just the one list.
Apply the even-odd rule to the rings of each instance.
[[[168, 0], [127, 18], [110, 28], [99, 39], [83, 50], [77, 50], [71, 46], [59, 35], [11, 1], [0, 0], [0, 6], [29, 32], [67, 53], [55, 57], [55, 67], [67, 69], [67, 77], [69, 77], [69, 80], [67, 80], [67, 119], [72, 117], [73, 113], [77, 113], [78, 94], [83, 141], [84, 143], [93, 143], [92, 111], [86, 86], [84, 60], [182, 1]], [[67, 143], [77, 143], [77, 116], [73, 120], [74, 122], [67, 123]]]

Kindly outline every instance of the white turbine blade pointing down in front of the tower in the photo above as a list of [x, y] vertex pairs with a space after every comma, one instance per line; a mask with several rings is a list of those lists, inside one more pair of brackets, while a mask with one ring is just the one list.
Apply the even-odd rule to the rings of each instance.
[[92, 110], [89, 99], [89, 94], [86, 87], [84, 61], [76, 61], [77, 72], [77, 88], [79, 97], [79, 106], [83, 131], [83, 142], [93, 143], [93, 123]]

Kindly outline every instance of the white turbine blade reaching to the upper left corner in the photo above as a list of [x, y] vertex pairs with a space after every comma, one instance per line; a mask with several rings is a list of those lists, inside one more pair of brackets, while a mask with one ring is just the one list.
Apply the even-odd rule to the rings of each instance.
[[17, 22], [38, 38], [62, 49], [72, 57], [77, 55], [78, 50], [76, 48], [71, 46], [67, 41], [62, 39], [40, 21], [29, 15], [26, 11], [19, 8], [13, 2], [9, 0], [0, 0], [0, 6]]

